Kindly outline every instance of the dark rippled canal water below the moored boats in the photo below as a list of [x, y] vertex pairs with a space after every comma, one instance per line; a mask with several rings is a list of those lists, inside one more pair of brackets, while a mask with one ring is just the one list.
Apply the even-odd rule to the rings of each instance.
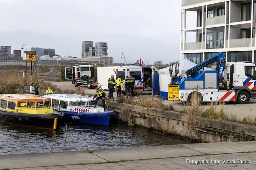
[[[67, 132], [67, 135], [66, 133]], [[186, 140], [152, 132], [146, 128], [112, 124], [109, 128], [93, 125], [62, 126], [53, 131], [0, 122], [0, 155], [67, 150], [127, 148], [184, 144]]]

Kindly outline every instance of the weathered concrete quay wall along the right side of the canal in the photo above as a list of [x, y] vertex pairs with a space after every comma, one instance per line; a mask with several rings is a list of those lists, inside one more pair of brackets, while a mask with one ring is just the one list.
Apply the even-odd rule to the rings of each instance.
[[125, 122], [133, 119], [136, 125], [148, 129], [167, 132], [202, 142], [226, 142], [253, 140], [256, 137], [256, 126], [216, 119], [192, 117], [173, 112], [145, 108], [136, 105], [106, 101], [117, 114], [116, 118]]

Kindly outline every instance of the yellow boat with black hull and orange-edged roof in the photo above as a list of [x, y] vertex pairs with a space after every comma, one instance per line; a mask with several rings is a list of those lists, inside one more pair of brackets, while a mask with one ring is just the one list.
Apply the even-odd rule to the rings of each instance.
[[50, 108], [50, 99], [35, 95], [0, 95], [0, 121], [56, 130], [61, 111]]

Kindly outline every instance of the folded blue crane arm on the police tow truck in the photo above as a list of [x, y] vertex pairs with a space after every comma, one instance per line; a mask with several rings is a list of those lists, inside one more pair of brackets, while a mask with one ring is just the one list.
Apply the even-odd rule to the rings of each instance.
[[217, 62], [216, 71], [219, 71], [219, 81], [222, 79], [222, 73], [225, 69], [226, 56], [222, 54], [222, 52], [213, 55], [211, 58], [199, 63], [198, 65], [188, 69], [186, 71], [186, 75], [188, 78], [195, 78], [198, 71], [204, 69], [209, 64]]

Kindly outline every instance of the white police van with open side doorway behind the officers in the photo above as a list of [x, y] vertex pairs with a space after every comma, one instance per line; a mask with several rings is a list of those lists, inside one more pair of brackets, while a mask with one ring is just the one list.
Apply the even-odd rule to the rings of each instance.
[[[158, 74], [158, 69], [154, 66], [119, 66], [117, 67], [116, 79], [121, 75], [121, 80], [126, 79], [126, 75], [135, 79], [134, 92], [153, 92], [153, 74]], [[124, 82], [121, 86], [124, 92]]]

